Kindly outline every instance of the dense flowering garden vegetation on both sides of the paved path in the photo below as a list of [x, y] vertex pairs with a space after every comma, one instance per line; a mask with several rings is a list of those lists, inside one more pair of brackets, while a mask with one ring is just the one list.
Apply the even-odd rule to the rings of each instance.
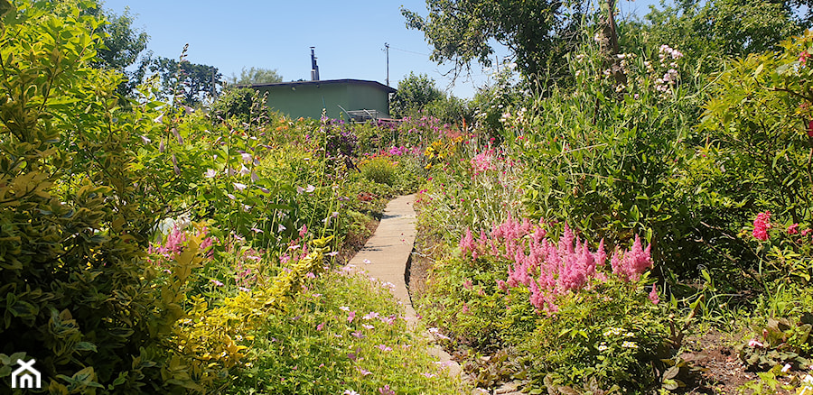
[[[213, 100], [184, 55], [126, 75], [142, 36], [95, 7], [0, 0], [4, 381], [34, 358], [59, 394], [699, 391], [687, 339], [716, 328], [759, 372], [743, 390], [804, 385], [813, 33], [790, 4], [581, 15], [545, 39], [555, 79], [524, 47], [471, 101], [411, 75], [398, 124]], [[416, 306], [468, 383], [342, 270], [411, 192]]]

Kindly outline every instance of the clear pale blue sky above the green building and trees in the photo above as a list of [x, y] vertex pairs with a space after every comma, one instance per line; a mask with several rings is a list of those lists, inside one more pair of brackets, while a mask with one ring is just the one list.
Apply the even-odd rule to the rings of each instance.
[[[135, 15], [135, 28], [150, 36], [147, 49], [177, 58], [189, 43], [187, 59], [220, 69], [225, 77], [240, 69], [276, 69], [285, 81], [310, 79], [310, 47], [322, 79], [356, 78], [381, 83], [386, 78], [384, 43], [390, 45], [389, 83], [410, 71], [435, 78], [454, 96], [472, 97], [489, 82], [490, 70], [472, 65], [472, 78], [451, 78], [451, 66], [429, 60], [424, 34], [406, 29], [400, 8], [427, 14], [424, 0], [246, 1], [104, 0], [105, 8]], [[620, 0], [621, 15], [646, 14], [658, 0]], [[637, 11], [636, 11], [637, 10]], [[505, 51], [500, 57], [508, 55]]]

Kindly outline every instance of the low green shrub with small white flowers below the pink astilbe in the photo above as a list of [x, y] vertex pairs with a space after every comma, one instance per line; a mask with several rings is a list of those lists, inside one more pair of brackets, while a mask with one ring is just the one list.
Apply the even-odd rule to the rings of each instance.
[[593, 283], [559, 300], [556, 316], [542, 317], [519, 345], [530, 388], [659, 387], [653, 364], [671, 356], [666, 317], [639, 282]]

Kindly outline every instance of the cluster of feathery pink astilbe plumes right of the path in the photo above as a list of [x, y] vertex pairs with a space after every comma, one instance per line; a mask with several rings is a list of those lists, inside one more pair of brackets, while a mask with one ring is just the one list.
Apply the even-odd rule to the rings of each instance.
[[[487, 253], [512, 262], [508, 279], [498, 281], [500, 289], [526, 287], [537, 312], [554, 314], [558, 296], [588, 287], [591, 279], [607, 280], [603, 272], [596, 270], [607, 262], [607, 253], [603, 239], [591, 252], [587, 242], [566, 224], [559, 241], [553, 243], [547, 239], [543, 225], [544, 220], [532, 224], [527, 218], [520, 222], [509, 217], [493, 227], [491, 238], [481, 232], [477, 243], [472, 231], [466, 230], [459, 245], [463, 257], [471, 255], [476, 259], [478, 253]], [[616, 248], [611, 257], [612, 273], [621, 280], [639, 280], [652, 267], [650, 248], [643, 248], [638, 236], [629, 251]]]

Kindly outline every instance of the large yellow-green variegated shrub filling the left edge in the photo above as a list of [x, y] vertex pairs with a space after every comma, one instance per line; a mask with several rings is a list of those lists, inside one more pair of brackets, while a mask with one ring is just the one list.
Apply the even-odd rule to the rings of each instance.
[[163, 210], [135, 130], [156, 115], [118, 111], [121, 76], [89, 67], [91, 4], [16, 5], [0, 30], [0, 353], [35, 357], [52, 393], [193, 386], [164, 348], [182, 311], [142, 251]]

